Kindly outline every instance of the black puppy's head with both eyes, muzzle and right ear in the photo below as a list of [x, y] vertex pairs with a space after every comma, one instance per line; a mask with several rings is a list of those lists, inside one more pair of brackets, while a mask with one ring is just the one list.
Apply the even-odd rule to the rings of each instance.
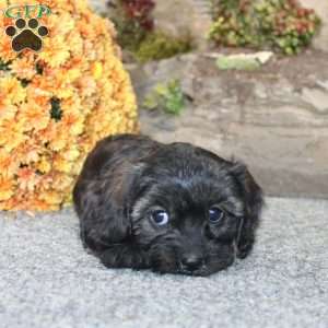
[[249, 253], [262, 198], [244, 165], [175, 143], [145, 159], [139, 172], [131, 235], [153, 270], [208, 276]]

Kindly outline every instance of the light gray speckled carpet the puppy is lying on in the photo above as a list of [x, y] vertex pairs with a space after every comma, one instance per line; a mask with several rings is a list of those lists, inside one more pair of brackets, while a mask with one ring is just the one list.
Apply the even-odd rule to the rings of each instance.
[[269, 199], [251, 257], [210, 278], [107, 270], [71, 210], [0, 214], [1, 327], [328, 327], [328, 201]]

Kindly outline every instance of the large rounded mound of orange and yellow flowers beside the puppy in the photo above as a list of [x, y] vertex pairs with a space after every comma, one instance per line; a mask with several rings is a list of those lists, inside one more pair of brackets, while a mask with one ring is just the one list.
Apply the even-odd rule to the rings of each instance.
[[[112, 23], [85, 0], [31, 4], [51, 12], [26, 10], [26, 0], [0, 0], [0, 210], [57, 210], [69, 203], [95, 143], [138, 130], [136, 98]], [[13, 50], [22, 44], [23, 50]]]

